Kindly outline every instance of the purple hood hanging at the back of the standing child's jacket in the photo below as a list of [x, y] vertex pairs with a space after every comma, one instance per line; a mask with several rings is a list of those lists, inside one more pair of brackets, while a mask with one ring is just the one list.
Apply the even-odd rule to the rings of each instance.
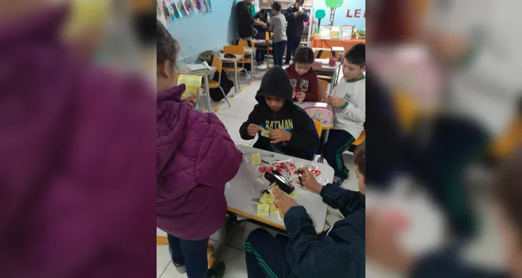
[[185, 85], [179, 85], [169, 90], [159, 92], [156, 97], [156, 167], [159, 174], [180, 145], [187, 131], [188, 109], [187, 101], [181, 100]]

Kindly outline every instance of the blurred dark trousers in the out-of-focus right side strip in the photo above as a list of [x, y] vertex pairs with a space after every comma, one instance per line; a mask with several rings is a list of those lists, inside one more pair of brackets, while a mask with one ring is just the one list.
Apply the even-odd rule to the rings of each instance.
[[426, 186], [449, 219], [454, 236], [468, 239], [477, 230], [477, 219], [464, 187], [464, 172], [487, 152], [489, 136], [469, 120], [441, 117], [432, 126], [426, 147], [411, 143], [409, 167]]

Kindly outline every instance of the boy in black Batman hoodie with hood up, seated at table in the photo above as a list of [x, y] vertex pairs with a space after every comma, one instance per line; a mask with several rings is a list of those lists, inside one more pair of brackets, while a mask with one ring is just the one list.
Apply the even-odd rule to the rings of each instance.
[[281, 67], [264, 74], [255, 99], [259, 104], [239, 128], [244, 140], [259, 138], [255, 148], [311, 160], [319, 149], [313, 121], [292, 101], [290, 78]]

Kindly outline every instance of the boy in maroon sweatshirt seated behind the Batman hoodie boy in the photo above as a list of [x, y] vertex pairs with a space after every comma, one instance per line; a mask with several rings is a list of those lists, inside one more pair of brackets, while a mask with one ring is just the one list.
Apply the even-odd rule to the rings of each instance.
[[290, 77], [294, 101], [319, 101], [317, 74], [312, 69], [314, 60], [315, 56], [312, 49], [300, 47], [295, 51], [294, 63], [285, 70]]

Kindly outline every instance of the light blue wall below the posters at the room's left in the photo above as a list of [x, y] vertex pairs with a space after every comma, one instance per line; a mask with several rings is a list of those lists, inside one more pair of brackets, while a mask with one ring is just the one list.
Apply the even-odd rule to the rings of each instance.
[[193, 13], [167, 22], [168, 31], [180, 42], [179, 58], [193, 63], [205, 50], [218, 51], [232, 44], [237, 38], [237, 1], [213, 0], [212, 13]]

